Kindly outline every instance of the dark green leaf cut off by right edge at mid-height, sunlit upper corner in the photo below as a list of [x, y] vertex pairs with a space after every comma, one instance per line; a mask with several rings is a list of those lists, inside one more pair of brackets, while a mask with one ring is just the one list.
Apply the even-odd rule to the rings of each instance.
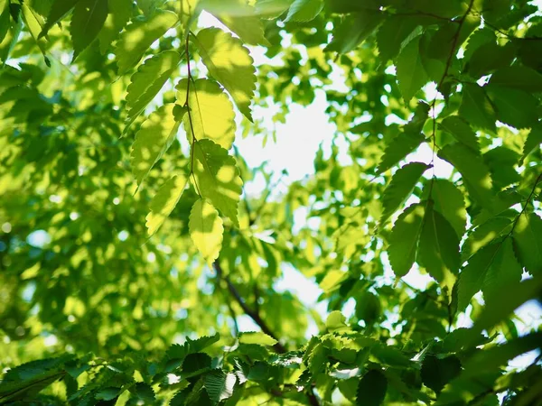
[[512, 233], [519, 262], [528, 272], [542, 272], [542, 219], [535, 213], [523, 213]]

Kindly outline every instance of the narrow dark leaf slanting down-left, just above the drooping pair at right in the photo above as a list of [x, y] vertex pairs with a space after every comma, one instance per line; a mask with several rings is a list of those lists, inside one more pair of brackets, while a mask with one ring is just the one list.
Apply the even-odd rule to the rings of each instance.
[[416, 183], [429, 168], [431, 166], [425, 163], [412, 162], [403, 166], [393, 175], [382, 195], [383, 213], [380, 217], [380, 225], [383, 225], [398, 208], [403, 206]]

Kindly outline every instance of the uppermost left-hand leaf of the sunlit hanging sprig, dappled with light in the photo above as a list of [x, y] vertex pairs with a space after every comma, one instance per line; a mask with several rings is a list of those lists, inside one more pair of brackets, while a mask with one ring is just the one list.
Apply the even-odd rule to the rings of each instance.
[[123, 75], [143, 57], [151, 44], [177, 23], [177, 14], [157, 10], [146, 20], [135, 21], [121, 32], [117, 41], [118, 74]]

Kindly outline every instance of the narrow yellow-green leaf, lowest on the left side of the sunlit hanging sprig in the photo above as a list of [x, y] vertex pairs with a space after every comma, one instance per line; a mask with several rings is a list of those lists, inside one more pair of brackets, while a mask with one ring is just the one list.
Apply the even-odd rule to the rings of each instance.
[[158, 192], [156, 192], [149, 205], [151, 212], [145, 217], [145, 226], [147, 227], [149, 236], [153, 236], [158, 231], [158, 228], [164, 224], [165, 219], [172, 213], [187, 183], [188, 179], [185, 176], [175, 175], [158, 189]]

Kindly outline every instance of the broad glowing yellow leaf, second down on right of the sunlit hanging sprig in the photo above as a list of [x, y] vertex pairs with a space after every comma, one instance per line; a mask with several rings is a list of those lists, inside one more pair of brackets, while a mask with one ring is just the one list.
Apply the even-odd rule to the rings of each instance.
[[[188, 79], [182, 79], [176, 86], [177, 99], [185, 100], [189, 86]], [[235, 112], [229, 97], [214, 80], [198, 79], [190, 82], [188, 106], [191, 115], [184, 116], [184, 130], [188, 141], [208, 138], [229, 150], [235, 139]]]

